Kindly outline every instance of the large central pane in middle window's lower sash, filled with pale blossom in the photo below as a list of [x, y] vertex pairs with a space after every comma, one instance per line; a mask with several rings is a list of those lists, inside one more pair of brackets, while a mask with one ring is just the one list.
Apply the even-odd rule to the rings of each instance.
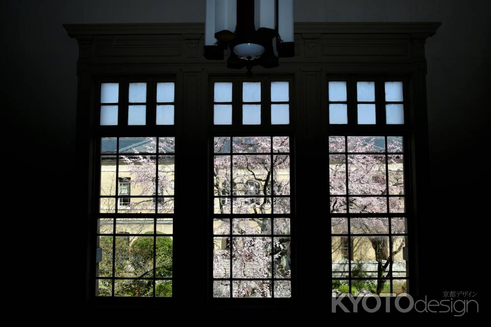
[[271, 237], [233, 237], [232, 277], [271, 277]]

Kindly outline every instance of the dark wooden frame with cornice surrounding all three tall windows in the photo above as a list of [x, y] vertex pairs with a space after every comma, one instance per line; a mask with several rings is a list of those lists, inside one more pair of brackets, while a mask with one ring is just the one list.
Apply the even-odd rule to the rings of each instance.
[[[301, 265], [293, 263], [296, 277], [292, 276], [295, 298], [287, 303], [262, 300], [261, 305], [281, 305], [315, 301], [318, 289], [311, 274], [317, 269], [319, 251], [328, 252], [322, 234], [314, 237], [312, 228], [328, 227], [328, 216], [312, 203], [323, 203], [328, 195], [327, 136], [328, 135], [378, 135], [375, 126], [333, 126], [328, 124], [327, 80], [339, 76], [357, 78], [383, 78], [406, 81], [405, 96], [405, 152], [410, 153], [405, 162], [408, 173], [406, 183], [411, 194], [410, 210], [413, 224], [410, 226], [411, 245], [409, 262], [411, 294], [418, 298], [420, 290], [417, 277], [421, 269], [417, 264], [417, 235], [421, 217], [430, 205], [428, 194], [427, 163], [428, 126], [426, 108], [426, 59], [425, 40], [432, 36], [438, 23], [296, 23], [296, 55], [280, 61], [275, 69], [255, 67], [253, 77], [291, 78], [290, 125], [288, 126], [213, 126], [210, 115], [210, 80], [213, 78], [244, 78], [243, 71], [229, 70], [224, 61], [208, 61], [202, 54], [202, 23], [192, 24], [94, 24], [65, 25], [68, 34], [79, 43], [78, 109], [77, 109], [77, 169], [85, 172], [85, 182], [78, 190], [79, 199], [86, 206], [74, 214], [73, 219], [86, 222], [86, 228], [77, 231], [87, 240], [83, 255], [85, 260], [86, 302], [92, 306], [155, 306], [164, 303], [179, 305], [193, 302], [198, 306], [221, 307], [223, 305], [258, 305], [257, 302], [237, 302], [235, 299], [217, 303], [210, 294], [210, 276], [206, 267], [210, 253], [196, 250], [190, 239], [207, 244], [209, 221], [210, 147], [214, 135], [278, 135], [291, 136], [295, 144], [296, 205], [299, 224], [296, 228], [297, 257]], [[120, 115], [118, 126], [99, 127], [99, 101], [97, 85], [102, 80], [122, 78], [169, 78], [175, 81], [174, 126], [155, 126], [149, 117], [154, 112], [147, 109], [147, 126], [126, 126], [127, 113]], [[148, 88], [147, 88], [148, 92]], [[147, 96], [150, 101], [151, 97]], [[124, 106], [123, 104], [119, 104]], [[147, 102], [147, 106], [149, 103]], [[350, 106], [348, 105], [350, 112]], [[148, 107], [147, 107], [148, 108]], [[292, 110], [292, 108], [295, 108]], [[153, 109], [152, 109], [153, 110]], [[120, 111], [121, 112], [121, 111]], [[242, 110], [240, 111], [242, 112]], [[271, 116], [269, 116], [271, 117]], [[269, 119], [266, 117], [266, 119]], [[154, 119], [154, 118], [152, 118]], [[239, 121], [242, 123], [241, 121]], [[104, 128], [102, 128], [104, 127]], [[270, 128], [271, 127], [271, 128]], [[265, 128], [269, 133], [265, 134]], [[384, 126], [385, 135], [401, 135], [401, 126]], [[290, 134], [285, 134], [287, 131]], [[176, 137], [176, 218], [173, 298], [168, 299], [102, 299], [94, 296], [93, 272], [95, 262], [94, 213], [97, 199], [95, 187], [98, 175], [97, 142], [102, 136], [174, 136]], [[415, 159], [417, 158], [417, 160]], [[196, 166], [196, 162], [203, 162]], [[204, 164], [207, 162], [207, 164]], [[186, 172], [194, 169], [194, 176]], [[317, 178], [309, 178], [309, 172], [319, 172]], [[189, 175], [189, 174], [188, 174]], [[314, 180], [315, 179], [315, 180]], [[186, 189], [190, 182], [199, 186]], [[324, 183], [324, 184], [320, 184]], [[312, 190], [315, 192], [305, 192]], [[319, 190], [319, 191], [317, 191]], [[198, 194], [199, 193], [199, 194]], [[179, 194], [179, 195], [178, 195]], [[187, 205], [192, 199], [194, 205]], [[177, 214], [179, 212], [179, 214]], [[323, 217], [322, 217], [323, 216]], [[181, 217], [194, 217], [193, 225]], [[308, 219], [310, 220], [308, 220]], [[314, 219], [315, 218], [315, 219]], [[301, 224], [300, 224], [301, 222]], [[323, 225], [326, 224], [326, 225]], [[179, 231], [179, 232], [178, 232]], [[328, 233], [325, 233], [328, 234]], [[293, 239], [292, 239], [293, 241]], [[316, 251], [312, 251], [312, 248]], [[192, 262], [186, 255], [194, 253]], [[196, 272], [203, 272], [197, 274]], [[321, 278], [321, 277], [319, 277]], [[325, 277], [327, 279], [327, 277]], [[190, 294], [192, 296], [190, 297]], [[310, 299], [310, 300], [309, 300]], [[247, 299], [244, 299], [247, 300]], [[272, 299], [276, 300], [276, 299]], [[277, 299], [285, 300], [285, 299]], [[314, 302], [312, 302], [314, 303]]]

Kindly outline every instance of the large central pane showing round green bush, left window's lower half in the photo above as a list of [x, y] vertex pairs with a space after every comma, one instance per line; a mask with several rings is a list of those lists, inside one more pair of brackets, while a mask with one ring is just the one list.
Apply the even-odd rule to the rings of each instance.
[[153, 243], [150, 236], [116, 236], [115, 277], [153, 275]]

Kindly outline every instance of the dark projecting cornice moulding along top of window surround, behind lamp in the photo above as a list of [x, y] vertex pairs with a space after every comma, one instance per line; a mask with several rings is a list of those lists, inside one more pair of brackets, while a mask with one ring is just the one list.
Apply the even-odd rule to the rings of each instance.
[[[295, 23], [296, 34], [411, 34], [429, 37], [440, 23]], [[203, 34], [204, 23], [147, 23], [147, 24], [65, 24], [68, 35], [74, 38], [87, 35], [166, 35]]]

